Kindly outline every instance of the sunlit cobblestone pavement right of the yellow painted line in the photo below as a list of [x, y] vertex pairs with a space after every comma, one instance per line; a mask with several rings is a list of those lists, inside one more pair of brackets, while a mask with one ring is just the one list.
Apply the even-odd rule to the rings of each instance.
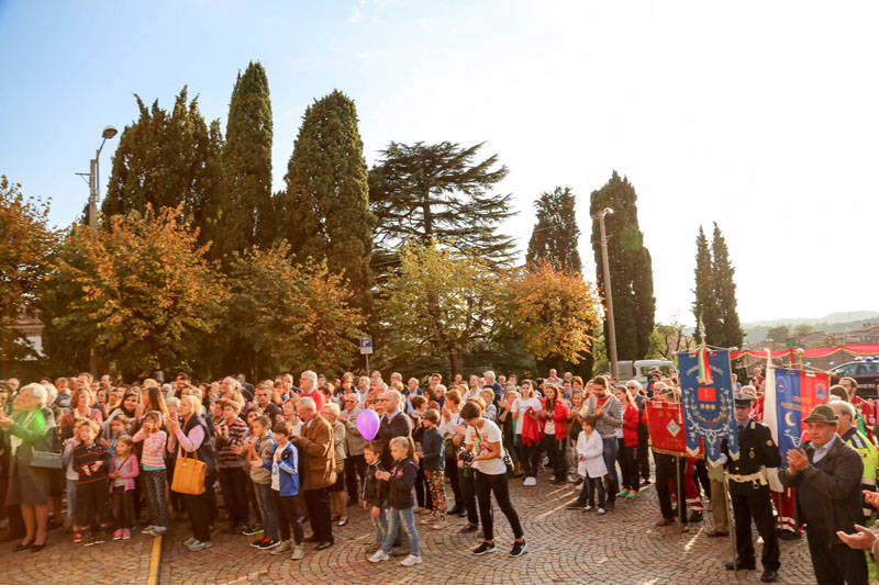
[[[511, 481], [513, 505], [525, 529], [528, 552], [508, 555], [513, 538], [505, 518], [496, 509], [498, 552], [470, 553], [475, 535], [459, 535], [465, 520], [432, 530], [419, 525], [424, 562], [407, 569], [392, 559], [378, 564], [366, 560], [372, 532], [364, 510], [349, 510], [352, 521], [334, 527], [335, 545], [316, 552], [307, 544], [305, 558], [292, 562], [248, 545], [252, 537], [218, 535], [214, 547], [190, 553], [182, 547], [189, 536], [178, 526], [165, 539], [163, 584], [196, 583], [628, 583], [706, 584], [735, 582], [723, 569], [731, 559], [728, 539], [710, 539], [711, 520], [692, 525], [681, 535], [676, 527], [655, 528], [659, 507], [653, 486], [638, 498], [619, 503], [603, 517], [566, 510], [577, 495], [574, 486], [554, 486], [542, 474], [536, 487]], [[710, 516], [710, 514], [708, 515]], [[424, 529], [422, 529], [424, 528]], [[309, 530], [305, 530], [308, 536]], [[755, 531], [756, 538], [756, 531]], [[759, 555], [760, 544], [756, 544]], [[759, 567], [759, 561], [758, 561]], [[759, 583], [758, 571], [738, 573], [742, 583]], [[780, 583], [814, 583], [805, 540], [781, 541]]]

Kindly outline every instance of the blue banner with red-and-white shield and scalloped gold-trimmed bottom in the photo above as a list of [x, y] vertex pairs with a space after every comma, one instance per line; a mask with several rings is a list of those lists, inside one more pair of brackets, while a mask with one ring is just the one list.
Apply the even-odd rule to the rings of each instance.
[[730, 457], [738, 459], [738, 426], [733, 402], [730, 350], [705, 349], [678, 353], [687, 452], [694, 457], [700, 442], [709, 463], [722, 459], [721, 440]]

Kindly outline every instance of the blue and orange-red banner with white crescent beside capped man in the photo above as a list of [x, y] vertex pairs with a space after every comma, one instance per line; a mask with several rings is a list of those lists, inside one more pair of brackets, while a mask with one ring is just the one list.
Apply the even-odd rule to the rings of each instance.
[[776, 368], [776, 425], [778, 449], [785, 459], [799, 449], [806, 424], [803, 418], [815, 405], [827, 402], [830, 374], [790, 368]]

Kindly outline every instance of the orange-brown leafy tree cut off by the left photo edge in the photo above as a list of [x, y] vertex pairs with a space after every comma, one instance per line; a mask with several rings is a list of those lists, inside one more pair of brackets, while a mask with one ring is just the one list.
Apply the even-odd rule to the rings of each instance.
[[0, 375], [4, 378], [10, 375], [11, 361], [34, 357], [14, 324], [20, 315], [38, 307], [43, 279], [58, 243], [47, 216], [48, 203], [25, 198], [19, 183], [0, 176]]

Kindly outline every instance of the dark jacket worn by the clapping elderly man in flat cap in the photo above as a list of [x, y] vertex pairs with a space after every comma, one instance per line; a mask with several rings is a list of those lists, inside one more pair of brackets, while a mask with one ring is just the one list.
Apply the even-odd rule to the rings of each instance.
[[[815, 448], [803, 443], [811, 463]], [[824, 544], [831, 547], [841, 541], [837, 530], [852, 533], [855, 524], [864, 524], [860, 508], [860, 480], [864, 462], [858, 452], [839, 437], [833, 441], [830, 452], [817, 463], [812, 463], [799, 473], [779, 470], [779, 479], [787, 487], [797, 487], [797, 508], [800, 518], [813, 530], [823, 535]]]

